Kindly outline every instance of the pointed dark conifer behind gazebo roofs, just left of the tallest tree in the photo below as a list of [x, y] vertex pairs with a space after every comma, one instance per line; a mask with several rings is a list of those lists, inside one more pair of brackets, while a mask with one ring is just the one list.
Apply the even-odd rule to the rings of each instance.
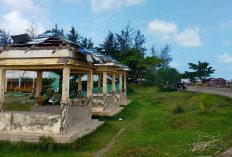
[[100, 48], [102, 48], [103, 54], [118, 59], [118, 45], [115, 36], [111, 31], [109, 31], [103, 43], [100, 44]]

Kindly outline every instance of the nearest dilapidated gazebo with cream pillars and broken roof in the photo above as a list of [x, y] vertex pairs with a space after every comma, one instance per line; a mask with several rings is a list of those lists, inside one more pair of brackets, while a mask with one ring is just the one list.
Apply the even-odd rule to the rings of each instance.
[[[12, 38], [14, 43], [0, 51], [0, 139], [37, 141], [39, 136], [51, 136], [57, 142], [68, 142], [103, 123], [91, 119], [94, 60], [90, 53], [51, 31], [32, 40], [26, 34]], [[31, 112], [4, 112], [6, 70], [37, 72], [36, 104]], [[62, 73], [60, 105], [38, 105], [43, 71]], [[71, 73], [88, 75], [82, 105], [69, 98]]]

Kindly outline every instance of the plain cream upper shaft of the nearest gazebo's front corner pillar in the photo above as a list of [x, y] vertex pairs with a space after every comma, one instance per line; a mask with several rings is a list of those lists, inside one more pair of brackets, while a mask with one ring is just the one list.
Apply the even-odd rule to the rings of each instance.
[[68, 103], [69, 99], [69, 77], [70, 77], [70, 68], [65, 66], [63, 69], [63, 80], [62, 80], [62, 98], [61, 103]]

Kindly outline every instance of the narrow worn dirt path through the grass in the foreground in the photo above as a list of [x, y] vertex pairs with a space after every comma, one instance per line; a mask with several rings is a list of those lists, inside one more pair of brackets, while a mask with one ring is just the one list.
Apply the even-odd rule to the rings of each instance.
[[120, 129], [117, 134], [111, 139], [111, 141], [106, 145], [106, 147], [102, 148], [99, 152], [97, 152], [94, 157], [101, 157], [102, 155], [104, 155], [105, 153], [107, 153], [114, 145], [116, 138], [118, 136], [120, 136], [126, 127], [123, 127], [122, 129]]

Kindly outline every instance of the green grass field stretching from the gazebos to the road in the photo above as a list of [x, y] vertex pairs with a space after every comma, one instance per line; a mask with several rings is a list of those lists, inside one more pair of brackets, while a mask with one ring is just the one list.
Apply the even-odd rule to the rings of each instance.
[[[133, 102], [115, 117], [100, 118], [106, 123], [92, 134], [71, 144], [0, 142], [0, 156], [94, 156], [122, 128], [103, 156], [216, 155], [232, 146], [232, 99], [212, 95], [213, 109], [204, 113], [198, 107], [198, 95], [134, 87], [128, 96]], [[6, 104], [8, 110], [17, 109], [10, 106], [14, 104]], [[174, 114], [177, 106], [182, 110]]]

